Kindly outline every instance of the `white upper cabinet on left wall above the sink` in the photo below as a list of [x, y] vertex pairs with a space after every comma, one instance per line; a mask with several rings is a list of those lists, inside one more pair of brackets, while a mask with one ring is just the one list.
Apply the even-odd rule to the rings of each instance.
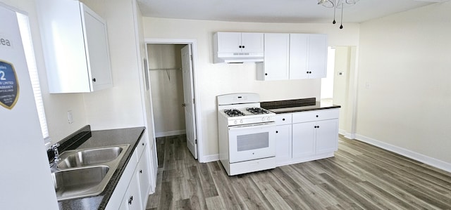
[[106, 22], [80, 1], [37, 0], [50, 93], [113, 86]]

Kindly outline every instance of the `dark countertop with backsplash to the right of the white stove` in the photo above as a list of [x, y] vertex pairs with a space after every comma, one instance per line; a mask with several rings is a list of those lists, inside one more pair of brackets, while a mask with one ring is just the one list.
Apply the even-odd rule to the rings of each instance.
[[340, 105], [333, 105], [333, 103], [328, 101], [316, 101], [316, 98], [267, 101], [260, 103], [260, 106], [276, 114], [327, 110], [341, 107]]

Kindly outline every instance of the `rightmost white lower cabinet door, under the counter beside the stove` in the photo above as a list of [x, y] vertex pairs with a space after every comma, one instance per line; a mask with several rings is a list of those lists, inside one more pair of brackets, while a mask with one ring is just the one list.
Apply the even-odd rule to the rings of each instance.
[[316, 153], [338, 149], [338, 119], [316, 122]]

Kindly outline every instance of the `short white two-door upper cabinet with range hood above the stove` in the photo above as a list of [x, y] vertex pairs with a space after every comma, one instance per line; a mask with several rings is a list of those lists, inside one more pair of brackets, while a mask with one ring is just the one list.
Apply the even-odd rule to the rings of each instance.
[[263, 33], [217, 32], [214, 34], [214, 63], [263, 61]]

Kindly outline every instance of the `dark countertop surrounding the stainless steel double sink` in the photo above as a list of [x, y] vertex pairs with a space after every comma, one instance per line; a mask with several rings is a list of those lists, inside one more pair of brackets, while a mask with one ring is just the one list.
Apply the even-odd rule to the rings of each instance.
[[[111, 195], [113, 194], [119, 179], [122, 176], [125, 166], [127, 166], [130, 157], [139, 143], [145, 127], [136, 127], [129, 129], [112, 129], [102, 131], [90, 131], [91, 137], [77, 147], [77, 149], [85, 149], [90, 147], [104, 147], [112, 145], [130, 144], [125, 155], [119, 162], [118, 168], [114, 171], [104, 192], [93, 197], [84, 197], [80, 199], [67, 199], [58, 202], [59, 209], [105, 209]], [[70, 148], [73, 150], [74, 148]], [[61, 151], [63, 152], [63, 151]]]

